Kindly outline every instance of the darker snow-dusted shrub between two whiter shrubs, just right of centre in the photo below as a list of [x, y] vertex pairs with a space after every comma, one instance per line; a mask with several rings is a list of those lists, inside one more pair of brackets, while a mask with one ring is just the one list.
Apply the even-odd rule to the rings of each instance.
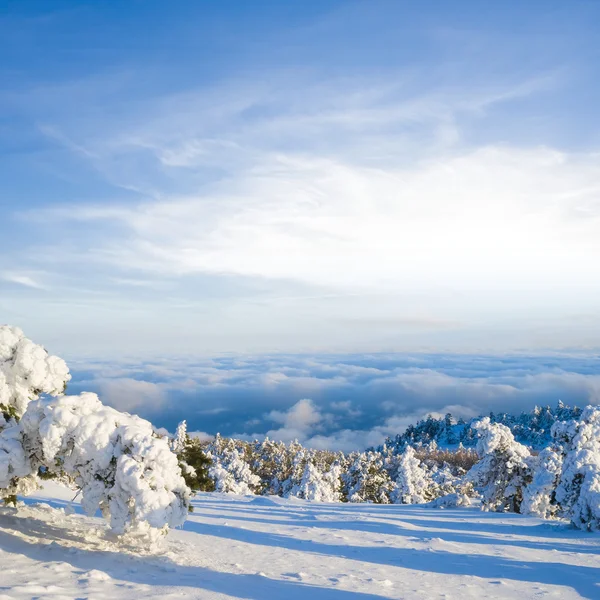
[[350, 455], [349, 466], [342, 480], [348, 502], [390, 502], [394, 485], [384, 469], [383, 457], [379, 452], [356, 452]]

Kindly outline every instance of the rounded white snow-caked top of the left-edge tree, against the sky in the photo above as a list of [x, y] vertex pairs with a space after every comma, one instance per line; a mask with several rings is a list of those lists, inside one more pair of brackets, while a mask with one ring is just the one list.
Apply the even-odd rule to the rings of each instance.
[[0, 326], [0, 405], [20, 417], [40, 394], [56, 396], [71, 379], [62, 358], [50, 356], [18, 327]]

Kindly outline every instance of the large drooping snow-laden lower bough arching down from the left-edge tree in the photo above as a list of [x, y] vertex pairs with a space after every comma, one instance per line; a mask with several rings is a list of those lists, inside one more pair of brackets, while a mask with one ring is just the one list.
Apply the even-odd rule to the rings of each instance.
[[185, 521], [189, 490], [177, 457], [148, 421], [84, 392], [30, 403], [19, 428], [32, 471], [71, 474], [84, 511], [100, 509], [116, 533]]

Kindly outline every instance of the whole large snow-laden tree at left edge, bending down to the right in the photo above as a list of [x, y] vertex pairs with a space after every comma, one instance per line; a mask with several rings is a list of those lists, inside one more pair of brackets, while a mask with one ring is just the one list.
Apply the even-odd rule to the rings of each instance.
[[66, 474], [117, 533], [180, 525], [189, 490], [167, 440], [95, 394], [62, 395], [69, 379], [62, 359], [0, 327], [0, 497], [16, 502], [38, 476]]

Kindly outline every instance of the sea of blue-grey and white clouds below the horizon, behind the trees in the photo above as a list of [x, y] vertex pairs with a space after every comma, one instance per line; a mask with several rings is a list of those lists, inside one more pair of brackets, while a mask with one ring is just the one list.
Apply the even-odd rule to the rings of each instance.
[[466, 354], [221, 356], [71, 362], [70, 392], [173, 431], [376, 445], [427, 414], [520, 412], [558, 400], [600, 401], [600, 357]]

